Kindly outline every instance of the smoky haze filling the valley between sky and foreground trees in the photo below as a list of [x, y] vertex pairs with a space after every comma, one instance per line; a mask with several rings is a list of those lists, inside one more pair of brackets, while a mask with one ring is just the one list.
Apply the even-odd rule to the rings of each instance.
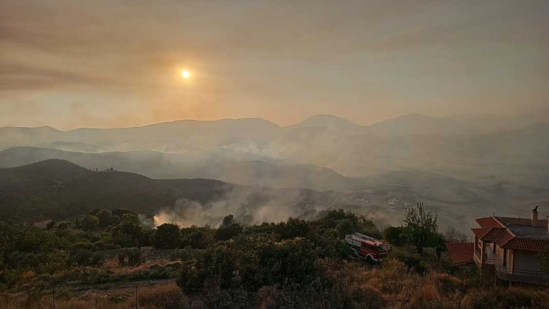
[[[243, 222], [261, 223], [311, 217], [341, 206], [382, 225], [394, 225], [406, 206], [422, 200], [438, 212], [441, 226], [463, 229], [475, 216], [516, 215], [527, 205], [549, 205], [549, 123], [544, 115], [544, 109], [514, 116], [409, 114], [371, 126], [316, 115], [285, 127], [264, 119], [181, 120], [71, 131], [4, 127], [0, 167], [63, 159], [88, 171], [114, 167], [153, 179], [174, 179], [172, 183], [208, 178], [232, 186], [215, 198], [209, 194], [209, 199], [197, 200], [193, 195], [175, 198], [173, 188], [165, 186], [169, 180], [150, 179], [159, 186], [150, 187], [150, 192], [163, 198], [128, 204], [184, 225], [219, 224], [228, 212]], [[25, 183], [10, 178], [0, 190], [23, 189], [18, 182]], [[110, 203], [101, 196], [97, 199], [98, 204]], [[40, 207], [33, 205], [25, 214], [46, 211]], [[71, 215], [91, 210], [70, 207]]]

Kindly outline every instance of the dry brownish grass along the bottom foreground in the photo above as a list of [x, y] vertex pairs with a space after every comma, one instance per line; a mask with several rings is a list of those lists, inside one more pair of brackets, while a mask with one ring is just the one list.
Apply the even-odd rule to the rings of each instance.
[[[289, 291], [276, 286], [264, 286], [256, 293], [240, 294], [238, 299], [223, 292], [203, 296], [188, 296], [173, 283], [138, 288], [137, 303], [140, 309], [194, 309], [214, 308], [219, 302], [229, 301], [237, 305], [239, 300], [247, 300], [244, 307], [275, 309], [281, 307], [300, 308], [309, 306], [335, 308], [368, 309], [424, 309], [424, 308], [549, 308], [549, 293], [546, 290], [527, 288], [470, 288], [462, 279], [446, 273], [428, 273], [423, 279], [417, 273], [406, 271], [399, 261], [388, 260], [380, 267], [370, 268], [357, 262], [323, 261], [324, 269], [334, 283], [332, 286], [309, 293]], [[143, 266], [148, 267], [148, 266]], [[135, 271], [137, 268], [130, 268]], [[113, 269], [113, 271], [130, 271]], [[25, 276], [32, 278], [32, 274]], [[108, 293], [111, 293], [110, 295]], [[216, 294], [217, 293], [217, 294]], [[76, 297], [70, 293], [59, 293], [57, 308], [60, 309], [131, 309], [135, 307], [133, 289], [89, 291]], [[214, 299], [212, 299], [212, 297]], [[229, 297], [229, 299], [226, 299]], [[232, 299], [230, 299], [233, 297]], [[298, 297], [298, 302], [296, 298]], [[299, 298], [301, 297], [301, 300]], [[327, 302], [324, 303], [323, 301]], [[0, 304], [5, 309], [50, 309], [51, 295], [10, 295], [0, 294]]]

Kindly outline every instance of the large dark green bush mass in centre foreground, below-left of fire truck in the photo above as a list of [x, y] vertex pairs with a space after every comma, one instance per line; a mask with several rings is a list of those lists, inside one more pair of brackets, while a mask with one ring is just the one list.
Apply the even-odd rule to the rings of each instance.
[[209, 289], [257, 290], [264, 285], [306, 284], [322, 277], [312, 243], [290, 239], [239, 239], [219, 243], [182, 262], [178, 285], [188, 294]]

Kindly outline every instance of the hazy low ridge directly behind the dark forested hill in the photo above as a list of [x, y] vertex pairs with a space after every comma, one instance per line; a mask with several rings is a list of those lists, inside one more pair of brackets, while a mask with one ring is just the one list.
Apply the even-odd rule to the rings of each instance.
[[0, 151], [0, 167], [64, 159], [89, 169], [132, 171], [152, 178], [211, 178], [244, 185], [279, 188], [343, 190], [354, 183], [338, 172], [315, 165], [271, 164], [245, 158], [234, 151], [193, 149], [184, 153], [129, 151], [77, 153], [57, 149], [16, 147]]

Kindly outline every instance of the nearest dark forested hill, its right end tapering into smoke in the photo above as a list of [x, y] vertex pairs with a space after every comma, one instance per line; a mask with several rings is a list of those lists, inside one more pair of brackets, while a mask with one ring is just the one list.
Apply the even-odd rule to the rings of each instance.
[[338, 200], [340, 196], [330, 191], [240, 186], [213, 179], [152, 179], [116, 170], [95, 172], [59, 159], [0, 169], [0, 218], [17, 220], [35, 216], [61, 219], [99, 208], [155, 214], [175, 205], [200, 207], [193, 210], [199, 213], [213, 211], [212, 207], [226, 211], [225, 207], [234, 205], [252, 220], [251, 211], [264, 205], [285, 207], [293, 211], [289, 215], [298, 216], [317, 205], [344, 204]]

